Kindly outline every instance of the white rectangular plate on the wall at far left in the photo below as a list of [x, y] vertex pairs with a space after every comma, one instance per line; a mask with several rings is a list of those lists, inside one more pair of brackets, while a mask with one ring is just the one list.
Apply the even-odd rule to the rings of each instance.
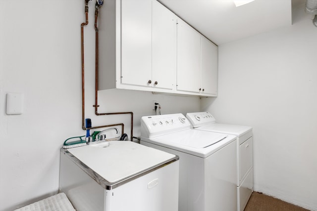
[[23, 98], [24, 96], [22, 93], [7, 93], [6, 114], [22, 114]]

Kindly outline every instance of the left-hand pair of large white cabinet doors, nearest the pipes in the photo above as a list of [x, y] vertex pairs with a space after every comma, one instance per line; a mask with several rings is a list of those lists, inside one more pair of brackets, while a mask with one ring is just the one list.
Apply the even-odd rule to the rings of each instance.
[[121, 1], [121, 83], [172, 89], [176, 16], [156, 0]]

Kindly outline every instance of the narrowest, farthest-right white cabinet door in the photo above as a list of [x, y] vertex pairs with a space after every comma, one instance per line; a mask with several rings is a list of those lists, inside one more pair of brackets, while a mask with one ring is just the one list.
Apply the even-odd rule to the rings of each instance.
[[202, 37], [202, 81], [201, 93], [218, 92], [218, 47]]

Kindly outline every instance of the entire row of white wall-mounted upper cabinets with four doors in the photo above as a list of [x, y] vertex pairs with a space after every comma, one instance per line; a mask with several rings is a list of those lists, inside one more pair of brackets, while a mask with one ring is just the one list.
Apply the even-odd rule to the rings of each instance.
[[217, 95], [217, 46], [157, 0], [107, 0], [98, 89]]

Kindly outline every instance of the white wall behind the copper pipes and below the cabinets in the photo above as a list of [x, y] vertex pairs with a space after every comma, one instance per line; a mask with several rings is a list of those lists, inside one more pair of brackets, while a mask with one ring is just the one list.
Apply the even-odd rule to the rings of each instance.
[[[124, 123], [130, 116], [94, 115], [94, 4], [85, 27], [86, 117], [93, 126]], [[101, 11], [102, 12], [102, 11]], [[84, 135], [81, 129], [80, 24], [84, 0], [0, 0], [0, 211], [10, 211], [57, 193], [59, 149], [63, 141]], [[6, 115], [6, 94], [24, 94], [24, 112]], [[134, 112], [140, 118], [161, 113], [194, 112], [198, 97], [111, 90], [99, 94], [100, 112]]]

